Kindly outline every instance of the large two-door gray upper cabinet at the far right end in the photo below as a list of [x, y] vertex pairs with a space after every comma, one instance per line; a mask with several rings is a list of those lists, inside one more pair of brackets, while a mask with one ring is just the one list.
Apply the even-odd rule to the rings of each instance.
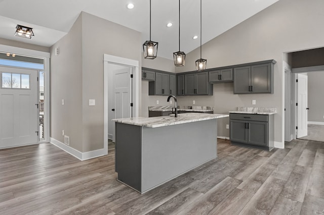
[[236, 67], [234, 94], [273, 93], [273, 63]]

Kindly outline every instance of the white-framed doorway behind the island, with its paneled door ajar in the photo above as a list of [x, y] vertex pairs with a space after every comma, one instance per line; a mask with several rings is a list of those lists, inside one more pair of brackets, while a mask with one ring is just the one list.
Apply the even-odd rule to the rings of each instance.
[[104, 55], [104, 145], [115, 142], [116, 118], [139, 116], [139, 62]]

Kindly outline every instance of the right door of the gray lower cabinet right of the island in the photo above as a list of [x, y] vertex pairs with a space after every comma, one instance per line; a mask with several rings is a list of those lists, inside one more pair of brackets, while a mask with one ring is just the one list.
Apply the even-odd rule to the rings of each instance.
[[249, 144], [268, 146], [268, 123], [249, 121]]

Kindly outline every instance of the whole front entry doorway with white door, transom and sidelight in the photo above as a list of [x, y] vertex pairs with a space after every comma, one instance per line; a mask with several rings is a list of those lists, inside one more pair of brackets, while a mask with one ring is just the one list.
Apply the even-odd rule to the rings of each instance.
[[45, 123], [49, 59], [21, 54], [27, 49], [1, 46], [11, 51], [0, 52], [0, 148], [44, 142], [49, 138], [49, 124]]

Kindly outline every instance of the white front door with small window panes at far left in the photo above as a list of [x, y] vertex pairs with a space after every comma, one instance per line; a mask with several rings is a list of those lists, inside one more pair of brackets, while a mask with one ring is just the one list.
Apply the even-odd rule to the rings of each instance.
[[37, 71], [0, 67], [0, 77], [0, 148], [37, 143]]

